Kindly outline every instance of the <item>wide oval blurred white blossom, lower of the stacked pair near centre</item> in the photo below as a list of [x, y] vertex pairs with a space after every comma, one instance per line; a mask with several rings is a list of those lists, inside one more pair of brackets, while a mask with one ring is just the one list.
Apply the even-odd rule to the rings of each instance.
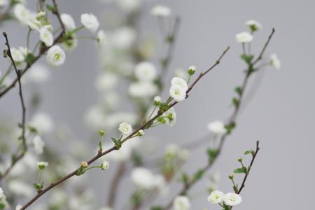
[[153, 97], [158, 87], [151, 82], [137, 82], [130, 84], [128, 92], [132, 97]]

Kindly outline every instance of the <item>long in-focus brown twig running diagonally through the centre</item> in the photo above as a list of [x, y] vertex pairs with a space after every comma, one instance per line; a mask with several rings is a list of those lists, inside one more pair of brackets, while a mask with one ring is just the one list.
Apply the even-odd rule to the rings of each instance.
[[[196, 80], [200, 80], [200, 78], [202, 78], [204, 75], [206, 75], [206, 73], [209, 73], [209, 71], [211, 71], [212, 69], [214, 69], [214, 67], [216, 67], [219, 63], [220, 60], [223, 58], [223, 56], [225, 55], [226, 52], [228, 52], [228, 50], [230, 49], [230, 47], [228, 47], [226, 50], [224, 50], [224, 52], [222, 53], [222, 55], [219, 57], [219, 59], [216, 61], [216, 63], [214, 65], [212, 65], [207, 71], [204, 71], [204, 73], [200, 73], [200, 76], [196, 79]], [[194, 85], [197, 82], [193, 83]], [[192, 86], [190, 86], [190, 88], [186, 91], [186, 93], [188, 94], [188, 92], [190, 92], [190, 90], [192, 90]], [[144, 123], [143, 125], [141, 125], [141, 127], [139, 127], [137, 130], [134, 130], [134, 132], [132, 132], [131, 134], [129, 134], [127, 137], [125, 137], [124, 139], [122, 139], [120, 142], [123, 144], [125, 143], [125, 141], [127, 141], [128, 139], [131, 139], [135, 134], [137, 134], [137, 132], [139, 132], [139, 130], [146, 130], [146, 127], [148, 125], [151, 125], [151, 123], [153, 123], [154, 120], [156, 120], [158, 117], [160, 117], [163, 113], [165, 113], [165, 111], [171, 109], [173, 106], [175, 106], [176, 104], [178, 104], [178, 102], [173, 102], [172, 104], [169, 104], [168, 109], [164, 110], [164, 111], [159, 111], [158, 114], [156, 116], [154, 116], [153, 118], [151, 118], [151, 120], [148, 120], [146, 123]], [[87, 163], [88, 165], [92, 164], [94, 161], [98, 160], [99, 158], [102, 158], [104, 155], [111, 153], [112, 151], [116, 151], [118, 150], [118, 148], [116, 146], [113, 146], [112, 148], [109, 148], [108, 150], [102, 152], [102, 153], [98, 153], [97, 155], [94, 156], [94, 158], [92, 158], [91, 160], [89, 160]], [[79, 169], [79, 168], [78, 168]], [[22, 208], [21, 210], [27, 209], [27, 207], [29, 207], [31, 204], [33, 204], [36, 200], [38, 200], [39, 197], [41, 197], [42, 195], [44, 195], [45, 193], [47, 193], [49, 190], [51, 190], [52, 188], [55, 188], [55, 186], [59, 185], [60, 183], [63, 183], [64, 181], [66, 181], [67, 179], [71, 178], [72, 176], [75, 176], [78, 172], [78, 169], [74, 170], [73, 172], [71, 172], [70, 174], [64, 176], [64, 178], [59, 179], [58, 181], [56, 181], [55, 183], [51, 183], [50, 186], [44, 188], [43, 190], [41, 190], [37, 195], [35, 195], [31, 200], [29, 200], [29, 202], [27, 202]]]

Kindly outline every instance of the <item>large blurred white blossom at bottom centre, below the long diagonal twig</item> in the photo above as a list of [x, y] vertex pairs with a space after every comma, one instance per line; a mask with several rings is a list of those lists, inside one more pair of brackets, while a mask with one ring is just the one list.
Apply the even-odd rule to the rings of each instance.
[[142, 190], [153, 190], [155, 188], [155, 176], [154, 174], [145, 168], [136, 168], [131, 174], [132, 182], [137, 188]]

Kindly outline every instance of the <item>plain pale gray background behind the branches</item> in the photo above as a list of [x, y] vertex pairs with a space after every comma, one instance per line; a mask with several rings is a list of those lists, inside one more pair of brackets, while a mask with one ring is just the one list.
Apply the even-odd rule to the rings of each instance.
[[[261, 152], [242, 194], [244, 202], [235, 209], [311, 209], [314, 199], [314, 1], [164, 1], [174, 13], [181, 15], [181, 33], [177, 41], [172, 69], [194, 64], [207, 68], [221, 51], [231, 46], [221, 66], [199, 83], [185, 102], [176, 107], [175, 127], [159, 127], [150, 131], [160, 141], [188, 142], [207, 134], [207, 123], [225, 119], [232, 90], [241, 83], [244, 65], [239, 59], [241, 47], [235, 34], [246, 30], [244, 22], [258, 20], [263, 30], [255, 36], [253, 50], [259, 50], [272, 27], [276, 34], [267, 54], [277, 52], [282, 68], [265, 69], [257, 95], [241, 113], [237, 130], [228, 138], [215, 170], [222, 175], [221, 190], [232, 191], [226, 178], [238, 166], [237, 158], [260, 140]], [[63, 1], [60, 8], [79, 21], [83, 12], [101, 15], [97, 1]], [[153, 5], [150, 1], [148, 8]], [[158, 34], [155, 19], [148, 16], [141, 27]], [[23, 44], [27, 30], [17, 24], [4, 25], [12, 42]], [[82, 122], [82, 113], [96, 99], [94, 78], [97, 73], [97, 52], [90, 41], [81, 41], [67, 53], [64, 66], [51, 69], [52, 78], [41, 86], [45, 99], [41, 110], [52, 113], [54, 120], [69, 124], [78, 139], [87, 139], [90, 132]], [[4, 69], [1, 59], [1, 69]], [[255, 80], [255, 79], [254, 79]], [[17, 89], [1, 99], [1, 115], [19, 119], [20, 102]], [[9, 111], [8, 111], [9, 110]], [[19, 111], [16, 111], [19, 110]], [[188, 129], [189, 128], [189, 129]], [[206, 157], [203, 150], [194, 153], [187, 169], [197, 169]], [[200, 191], [206, 181], [193, 189]], [[92, 185], [93, 186], [93, 185]], [[97, 184], [95, 184], [97, 186]], [[199, 189], [199, 190], [198, 190]], [[102, 188], [98, 188], [102, 190]], [[104, 190], [104, 188], [103, 188]], [[193, 209], [215, 209], [197, 197]], [[102, 199], [100, 198], [100, 204]]]

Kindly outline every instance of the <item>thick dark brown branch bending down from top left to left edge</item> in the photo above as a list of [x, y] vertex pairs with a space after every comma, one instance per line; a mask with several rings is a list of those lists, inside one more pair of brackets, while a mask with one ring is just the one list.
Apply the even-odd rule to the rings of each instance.
[[[62, 21], [60, 19], [60, 15], [59, 15], [59, 12], [58, 12], [58, 7], [57, 7], [57, 4], [55, 2], [55, 0], [52, 0], [52, 3], [54, 4], [54, 13], [57, 15], [58, 17], [58, 20], [62, 26], [62, 31], [60, 32], [60, 34], [54, 39], [53, 43], [51, 46], [43, 46], [43, 48], [41, 48], [39, 54], [34, 57], [33, 59], [29, 60], [29, 62], [27, 62], [27, 66], [25, 66], [25, 69], [21, 70], [20, 71], [20, 77], [22, 77], [24, 75], [24, 73], [27, 72], [27, 70], [29, 70], [29, 68], [31, 67], [31, 65], [33, 65], [35, 62], [38, 61], [38, 59], [41, 58], [41, 56], [43, 56], [45, 54], [45, 52], [47, 52], [53, 45], [55, 45], [56, 43], [59, 43], [60, 41], [64, 41], [63, 40], [63, 36], [64, 36], [64, 33], [65, 33], [65, 29], [63, 27], [63, 24], [62, 24]], [[56, 12], [57, 11], [57, 12]], [[19, 78], [15, 78], [13, 80], [12, 83], [10, 83], [10, 85], [8, 85], [8, 87], [6, 87], [4, 90], [2, 90], [0, 92], [0, 98], [3, 97], [4, 94], [6, 94], [9, 90], [11, 90], [16, 83], [18, 83], [18, 80]]]

